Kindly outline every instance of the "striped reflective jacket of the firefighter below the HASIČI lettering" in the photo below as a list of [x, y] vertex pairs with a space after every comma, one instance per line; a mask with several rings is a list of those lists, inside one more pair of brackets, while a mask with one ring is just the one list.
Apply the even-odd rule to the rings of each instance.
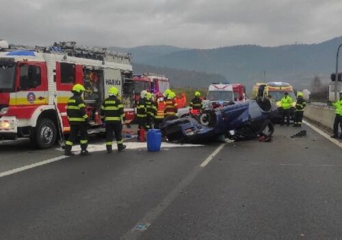
[[110, 96], [103, 101], [100, 115], [106, 123], [121, 123], [121, 119], [124, 118], [124, 106], [115, 96]]

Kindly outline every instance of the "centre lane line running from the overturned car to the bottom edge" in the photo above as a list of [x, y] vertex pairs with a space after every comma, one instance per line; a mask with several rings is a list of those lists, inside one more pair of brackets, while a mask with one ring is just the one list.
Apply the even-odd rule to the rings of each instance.
[[[218, 152], [220, 152], [224, 145], [225, 143], [220, 145], [217, 149], [215, 149], [215, 151], [212, 154], [210, 154], [210, 160], [213, 159], [213, 157], [216, 154], [218, 154]], [[202, 167], [197, 166], [192, 171], [190, 171], [190, 173], [183, 180], [181, 180], [181, 182], [179, 182], [179, 184], [174, 189], [172, 189], [172, 191], [170, 191], [170, 193], [168, 193], [168, 195], [166, 195], [166, 197], [157, 206], [155, 206], [155, 208], [148, 211], [144, 215], [144, 217], [140, 221], [138, 221], [137, 224], [133, 226], [133, 228], [131, 228], [131, 230], [127, 231], [124, 235], [122, 235], [122, 237], [120, 237], [120, 240], [138, 239], [142, 231], [137, 230], [137, 228], [140, 228], [140, 226], [146, 226], [146, 228], [144, 228], [144, 230], [146, 230], [153, 223], [153, 221], [155, 221], [155, 219], [157, 219], [157, 217], [161, 215], [161, 213], [163, 213], [163, 211], [165, 211], [166, 208], [170, 206], [170, 204], [172, 204], [172, 202], [179, 195], [179, 193], [182, 193], [183, 189], [185, 189], [185, 187], [187, 187], [187, 185], [196, 178], [196, 176], [198, 175], [198, 173], [200, 173], [202, 169]]]

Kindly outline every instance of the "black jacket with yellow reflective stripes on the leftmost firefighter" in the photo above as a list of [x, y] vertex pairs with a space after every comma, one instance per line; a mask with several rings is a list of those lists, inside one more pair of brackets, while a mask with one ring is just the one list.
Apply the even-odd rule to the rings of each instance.
[[68, 100], [68, 105], [66, 106], [66, 114], [68, 115], [68, 120], [71, 124], [82, 124], [89, 121], [89, 117], [86, 113], [86, 104], [84, 104], [83, 99], [79, 95], [73, 95]]

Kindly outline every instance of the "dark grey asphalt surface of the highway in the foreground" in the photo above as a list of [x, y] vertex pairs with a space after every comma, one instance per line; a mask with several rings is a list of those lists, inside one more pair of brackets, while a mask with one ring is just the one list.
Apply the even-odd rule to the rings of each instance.
[[[342, 149], [303, 129], [154, 153], [130, 143], [11, 173], [0, 239], [341, 239]], [[21, 144], [0, 144], [0, 174], [62, 155]]]

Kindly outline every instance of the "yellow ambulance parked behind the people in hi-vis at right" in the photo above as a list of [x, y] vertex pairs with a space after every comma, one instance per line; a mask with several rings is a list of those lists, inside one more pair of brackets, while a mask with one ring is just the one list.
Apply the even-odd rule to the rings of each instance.
[[257, 99], [258, 91], [260, 86], [263, 87], [263, 97], [271, 96], [271, 100], [276, 102], [276, 106], [278, 108], [278, 114], [274, 115], [274, 120], [279, 121], [282, 117], [282, 108], [280, 108], [280, 100], [284, 97], [285, 93], [288, 93], [289, 96], [293, 99], [292, 106], [290, 108], [290, 117], [291, 120], [294, 119], [295, 114], [295, 102], [297, 98], [295, 97], [295, 93], [293, 93], [293, 87], [287, 82], [267, 82], [267, 83], [256, 83], [252, 88], [252, 99]]

